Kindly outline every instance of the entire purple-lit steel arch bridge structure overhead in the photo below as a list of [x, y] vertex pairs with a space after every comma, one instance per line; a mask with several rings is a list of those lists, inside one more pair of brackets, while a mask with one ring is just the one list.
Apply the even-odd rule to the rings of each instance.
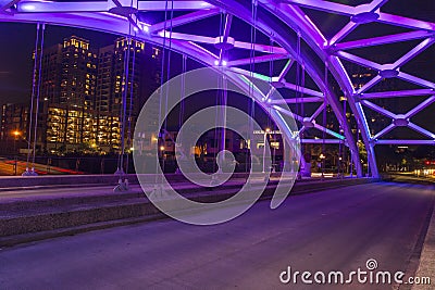
[[[431, 109], [435, 102], [435, 80], [420, 76], [419, 72], [407, 71], [407, 64], [418, 59], [435, 42], [435, 23], [403, 15], [407, 11], [398, 11], [395, 2], [403, 1], [0, 0], [0, 21], [47, 23], [125, 36], [133, 26], [136, 38], [159, 46], [165, 45], [166, 48], [170, 47], [208, 66], [225, 66], [224, 72], [227, 75], [237, 73], [252, 81], [254, 78], [265, 79], [275, 89], [284, 91], [287, 104], [311, 103], [318, 105], [316, 110], [310, 115], [291, 113], [283, 110], [279, 102], [270, 99], [269, 94], [257, 101], [263, 102], [262, 105], [272, 109], [275, 114], [293, 115], [300, 124], [300, 131], [312, 128], [328, 136], [328, 139], [302, 139], [302, 142], [346, 144], [357, 174], [362, 176], [363, 169], [356, 140], [358, 137], [352, 134], [345, 112], [346, 106], [340, 102], [346, 100], [368, 152], [371, 176], [376, 177], [378, 172], [375, 146], [435, 146], [435, 134], [421, 123], [414, 122], [418, 113]], [[397, 7], [406, 5], [402, 3]], [[146, 20], [146, 15], [161, 15], [167, 11], [174, 12], [170, 20], [154, 23], [148, 23]], [[219, 29], [220, 21], [222, 29]], [[210, 29], [206, 31], [198, 28], [204, 27], [206, 23]], [[232, 26], [237, 23], [245, 25], [239, 26], [238, 30], [247, 29], [246, 35], [249, 35], [249, 29], [253, 27], [258, 37], [251, 41], [240, 33], [236, 37]], [[381, 26], [383, 29], [376, 29]], [[370, 55], [359, 51], [361, 48], [378, 49], [405, 42], [409, 49], [402, 51], [397, 59], [384, 63], [373, 61]], [[247, 56], [249, 51], [254, 51], [256, 55]], [[279, 72], [264, 75], [257, 70], [252, 71], [252, 63], [257, 64], [257, 67], [265, 63], [276, 63]], [[371, 78], [365, 84], [358, 86], [350, 75], [350, 64], [359, 67], [358, 70], [364, 67], [374, 73], [369, 74]], [[303, 86], [299, 79], [289, 80], [289, 72], [298, 65], [311, 79], [310, 86]], [[378, 88], [380, 84], [391, 79], [410, 86]], [[245, 83], [245, 86], [250, 85]], [[418, 103], [400, 114], [391, 112], [393, 109], [386, 103], [378, 102], [406, 97], [414, 98]], [[326, 105], [333, 110], [339, 130], [315, 122]], [[376, 112], [390, 122], [375, 131], [366, 117], [368, 111]], [[402, 127], [413, 130], [419, 137], [386, 138], [391, 130]]]

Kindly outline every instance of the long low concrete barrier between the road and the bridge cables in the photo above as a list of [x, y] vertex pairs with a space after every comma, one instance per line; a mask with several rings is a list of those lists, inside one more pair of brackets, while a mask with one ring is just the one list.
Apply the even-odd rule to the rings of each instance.
[[[296, 182], [290, 194], [373, 181], [377, 180], [349, 178]], [[276, 182], [270, 181], [261, 199], [270, 199], [273, 196]], [[188, 187], [182, 190], [182, 194], [198, 202], [217, 202], [233, 197], [240, 186], [241, 184], [228, 185], [219, 189], [200, 191], [196, 187]], [[29, 200], [10, 200], [2, 202], [0, 210], [0, 245], [46, 239], [59, 236], [60, 232], [71, 235], [72, 228], [77, 228], [77, 232], [86, 231], [98, 223], [104, 223], [104, 227], [110, 227], [120, 224], [120, 220], [132, 219], [132, 223], [137, 223], [165, 217], [141, 191], [123, 193], [111, 191], [73, 197], [59, 194], [57, 198], [36, 197]]]

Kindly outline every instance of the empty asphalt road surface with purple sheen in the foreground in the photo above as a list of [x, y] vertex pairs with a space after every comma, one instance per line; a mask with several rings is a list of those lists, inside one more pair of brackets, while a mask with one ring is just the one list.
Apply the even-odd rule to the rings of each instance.
[[273, 211], [262, 201], [217, 226], [165, 219], [46, 240], [0, 251], [0, 289], [391, 289], [356, 277], [284, 285], [279, 274], [348, 275], [373, 259], [373, 273], [406, 280], [433, 204], [432, 186], [370, 184], [290, 197]]

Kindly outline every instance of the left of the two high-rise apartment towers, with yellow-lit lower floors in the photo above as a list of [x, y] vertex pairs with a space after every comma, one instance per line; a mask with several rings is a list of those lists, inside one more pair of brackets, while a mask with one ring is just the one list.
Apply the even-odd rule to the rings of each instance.
[[[97, 52], [71, 36], [44, 51], [37, 143], [41, 151], [74, 151], [95, 139], [92, 105]], [[45, 89], [47, 88], [47, 89]]]

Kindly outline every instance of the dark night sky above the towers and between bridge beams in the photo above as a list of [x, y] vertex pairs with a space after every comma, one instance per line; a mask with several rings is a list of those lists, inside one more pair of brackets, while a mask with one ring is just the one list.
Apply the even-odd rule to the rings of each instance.
[[[366, 3], [369, 1], [341, 0], [336, 2], [341, 2], [350, 5], [358, 5], [361, 3]], [[435, 1], [433, 0], [412, 1], [411, 5], [409, 0], [390, 0], [383, 7], [382, 10], [387, 13], [396, 13], [403, 16], [409, 16], [409, 17], [413, 16], [419, 20], [435, 22]], [[314, 20], [314, 23], [318, 24], [318, 26], [326, 36], [334, 35], [340, 27], [343, 27], [343, 25], [345, 25], [348, 22], [348, 17], [332, 15], [323, 12], [316, 12], [313, 10], [304, 10], [304, 11]], [[147, 18], [147, 15], [145, 15], [145, 17], [146, 21], [149, 23], [154, 22]], [[374, 27], [374, 25], [376, 25], [376, 27]], [[195, 27], [194, 29], [198, 29], [199, 34], [201, 34], [202, 31], [202, 35], [207, 35], [207, 31], [203, 28], [204, 27]], [[376, 31], [382, 35], [383, 33], [385, 34], [389, 28], [386, 25], [380, 26], [378, 24], [362, 25], [355, 33], [349, 35], [348, 40], [351, 40], [352, 37], [358, 38], [362, 35], [368, 35], [369, 33], [368, 29], [371, 33]], [[209, 30], [210, 33], [210, 27], [208, 27], [207, 30]], [[245, 29], [240, 29], [240, 27], [235, 27], [233, 25], [232, 35], [235, 36], [237, 39], [241, 38], [243, 40], [246, 41], [248, 39], [244, 38], [248, 37], [249, 34], [246, 34], [246, 31], [244, 30]], [[36, 25], [34, 24], [0, 23], [0, 39], [2, 39], [2, 46], [0, 46], [0, 104], [7, 102], [28, 101], [32, 89], [32, 67], [33, 67], [32, 51], [34, 50], [35, 46], [35, 35], [36, 35]], [[63, 38], [69, 37], [71, 35], [76, 35], [89, 39], [92, 48], [99, 48], [107, 45], [111, 45], [113, 43], [113, 40], [116, 38], [116, 36], [109, 34], [48, 25], [46, 30], [46, 41], [45, 41], [46, 47], [49, 47], [54, 43], [61, 43]], [[213, 33], [213, 35], [216, 36], [217, 31]], [[406, 48], [406, 45], [402, 45], [402, 48]], [[401, 50], [400, 48], [397, 47], [391, 50], [391, 48], [387, 46], [385, 48], [376, 47], [375, 51], [373, 51], [373, 49], [374, 48], [370, 48], [370, 49], [363, 49], [359, 52], [352, 52], [352, 51], [351, 52], [356, 54], [361, 54], [362, 56], [366, 56], [363, 54], [380, 54], [380, 55], [393, 56], [394, 51], [398, 53], [398, 51]], [[408, 48], [406, 48], [406, 50], [408, 50]], [[396, 58], [396, 55], [394, 56]], [[417, 75], [427, 78], [432, 81], [435, 81], [435, 79], [431, 79], [434, 77], [433, 65], [432, 65], [434, 60], [435, 60], [435, 48], [432, 47], [427, 52], [422, 54], [422, 56], [420, 58], [419, 68], [423, 72], [422, 74], [417, 74]], [[422, 67], [421, 64], [423, 64], [423, 66], [425, 67]], [[268, 73], [264, 72], [264, 74]]]

